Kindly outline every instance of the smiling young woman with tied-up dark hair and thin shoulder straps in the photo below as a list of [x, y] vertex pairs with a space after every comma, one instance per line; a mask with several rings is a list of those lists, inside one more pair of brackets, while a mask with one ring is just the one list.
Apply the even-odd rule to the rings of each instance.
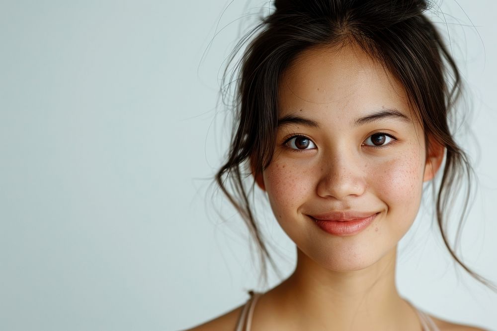
[[470, 166], [448, 126], [458, 70], [426, 1], [275, 7], [242, 58], [236, 131], [217, 179], [269, 258], [243, 182], [251, 171], [296, 244], [297, 265], [191, 330], [481, 330], [430, 316], [395, 286], [397, 244], [438, 172], [445, 244], [486, 282], [446, 240], [450, 194]]

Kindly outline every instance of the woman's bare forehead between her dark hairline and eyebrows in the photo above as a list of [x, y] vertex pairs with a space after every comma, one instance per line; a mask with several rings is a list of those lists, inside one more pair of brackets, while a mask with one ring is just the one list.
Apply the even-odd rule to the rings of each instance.
[[356, 45], [319, 47], [300, 54], [281, 77], [279, 115], [359, 117], [373, 109], [396, 108], [412, 118], [404, 87]]

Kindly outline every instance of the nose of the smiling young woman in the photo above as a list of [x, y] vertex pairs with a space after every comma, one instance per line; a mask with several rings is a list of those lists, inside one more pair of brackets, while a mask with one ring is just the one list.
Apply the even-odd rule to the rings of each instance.
[[323, 157], [318, 196], [338, 200], [361, 196], [366, 191], [367, 183], [360, 164], [359, 157], [351, 151], [337, 151], [332, 157]]

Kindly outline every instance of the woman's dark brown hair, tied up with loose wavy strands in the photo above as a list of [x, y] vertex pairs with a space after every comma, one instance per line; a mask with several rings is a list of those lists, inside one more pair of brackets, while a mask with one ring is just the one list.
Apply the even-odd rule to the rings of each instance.
[[[244, 184], [246, 177], [261, 173], [271, 162], [278, 119], [278, 85], [289, 64], [304, 50], [355, 43], [398, 79], [406, 89], [412, 109], [431, 137], [446, 149], [445, 166], [436, 195], [436, 218], [442, 239], [455, 261], [479, 281], [455, 254], [446, 235], [445, 212], [453, 195], [467, 180], [464, 220], [470, 197], [472, 169], [466, 154], [449, 129], [451, 113], [461, 94], [457, 66], [434, 24], [425, 16], [423, 0], [276, 0], [275, 10], [245, 36], [251, 39], [239, 62], [234, 103], [235, 126], [228, 160], [216, 181], [246, 221], [260, 251], [263, 276], [267, 260], [275, 266], [254, 219]], [[228, 76], [225, 73], [225, 79]], [[233, 78], [233, 76], [231, 77]], [[251, 168], [250, 168], [251, 167]]]

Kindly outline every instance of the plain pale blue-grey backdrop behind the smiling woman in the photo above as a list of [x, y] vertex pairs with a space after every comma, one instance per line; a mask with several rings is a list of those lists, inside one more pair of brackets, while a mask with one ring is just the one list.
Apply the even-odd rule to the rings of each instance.
[[[497, 5], [438, 5], [433, 20], [469, 92], [473, 133], [462, 126], [457, 138], [479, 175], [461, 252], [497, 281]], [[267, 289], [244, 223], [209, 185], [231, 130], [218, 100], [225, 60], [268, 10], [257, 0], [1, 1], [1, 330], [178, 330]], [[295, 249], [255, 199], [286, 277]], [[497, 294], [454, 268], [433, 222], [423, 207], [401, 242], [400, 292], [497, 330]], [[269, 286], [279, 281], [271, 274]]]

